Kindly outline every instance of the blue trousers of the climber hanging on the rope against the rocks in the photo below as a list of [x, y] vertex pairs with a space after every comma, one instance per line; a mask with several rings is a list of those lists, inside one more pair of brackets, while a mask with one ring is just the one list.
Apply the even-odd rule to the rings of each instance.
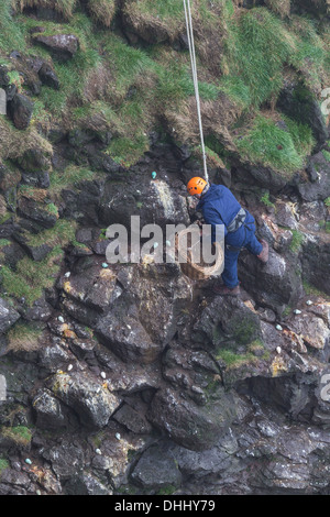
[[254, 219], [249, 212], [245, 224], [246, 227], [242, 226], [235, 232], [228, 233], [224, 239], [224, 270], [221, 277], [227, 287], [235, 287], [240, 283], [238, 277], [238, 260], [240, 250], [228, 250], [226, 244], [230, 244], [234, 248], [246, 248], [246, 250], [249, 250], [253, 255], [258, 255], [263, 249], [262, 244], [255, 237], [256, 228]]

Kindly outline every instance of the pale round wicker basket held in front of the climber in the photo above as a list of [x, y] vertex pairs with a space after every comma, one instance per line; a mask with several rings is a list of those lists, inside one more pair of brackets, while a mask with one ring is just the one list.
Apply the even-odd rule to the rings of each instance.
[[[176, 256], [178, 257], [179, 264], [182, 272], [188, 276], [189, 278], [194, 280], [200, 280], [200, 279], [207, 279], [209, 278], [213, 273], [220, 270], [221, 265], [223, 264], [224, 255], [221, 245], [216, 242], [216, 260], [212, 265], [206, 264], [202, 258], [199, 263], [193, 262], [193, 253], [189, 251], [189, 248], [184, 249], [183, 246], [179, 245], [180, 239], [184, 235], [187, 235], [188, 244], [189, 244], [189, 238], [191, 240], [191, 233], [198, 232], [198, 239], [196, 239], [196, 242], [198, 242], [198, 245], [200, 245], [200, 232], [199, 230], [195, 230], [191, 228], [187, 228], [185, 230], [182, 230], [179, 233], [175, 235], [175, 252]], [[196, 235], [195, 235], [196, 238]]]

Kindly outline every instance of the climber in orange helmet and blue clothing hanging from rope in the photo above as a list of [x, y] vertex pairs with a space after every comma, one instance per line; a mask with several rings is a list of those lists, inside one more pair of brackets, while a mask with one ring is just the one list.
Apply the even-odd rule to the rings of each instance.
[[188, 182], [187, 190], [190, 196], [199, 200], [196, 210], [202, 213], [207, 224], [212, 226], [215, 242], [216, 224], [224, 226], [224, 268], [221, 285], [216, 285], [217, 295], [240, 294], [238, 278], [238, 260], [242, 248], [246, 248], [253, 255], [266, 263], [268, 261], [268, 243], [255, 237], [254, 218], [241, 207], [229, 188], [213, 185], [204, 178], [194, 177]]

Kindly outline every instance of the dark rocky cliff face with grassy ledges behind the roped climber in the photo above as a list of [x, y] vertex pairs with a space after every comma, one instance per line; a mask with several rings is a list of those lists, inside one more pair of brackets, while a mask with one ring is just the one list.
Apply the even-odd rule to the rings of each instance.
[[1, 495], [329, 494], [328, 7], [193, 2], [209, 175], [270, 243], [222, 298], [106, 260], [194, 213], [183, 2], [1, 3]]

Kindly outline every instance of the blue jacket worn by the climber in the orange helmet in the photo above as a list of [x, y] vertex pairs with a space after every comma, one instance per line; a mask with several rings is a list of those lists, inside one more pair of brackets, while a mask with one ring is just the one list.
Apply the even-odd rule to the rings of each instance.
[[[245, 230], [242, 226], [233, 233], [229, 233], [227, 227], [241, 209], [241, 205], [223, 185], [211, 185], [208, 191], [202, 196], [196, 210], [201, 211], [205, 222], [212, 226], [212, 242], [215, 242], [216, 224], [224, 226], [224, 238], [228, 244], [233, 246], [241, 245], [245, 239]], [[246, 223], [254, 223], [254, 218], [246, 210]], [[254, 228], [251, 228], [255, 230]]]

